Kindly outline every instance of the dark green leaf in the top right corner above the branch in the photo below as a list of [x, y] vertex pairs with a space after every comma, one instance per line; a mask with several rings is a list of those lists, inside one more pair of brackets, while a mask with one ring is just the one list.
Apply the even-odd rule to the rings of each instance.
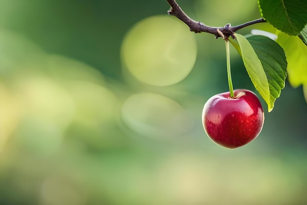
[[261, 15], [273, 27], [298, 35], [307, 24], [306, 0], [258, 0]]

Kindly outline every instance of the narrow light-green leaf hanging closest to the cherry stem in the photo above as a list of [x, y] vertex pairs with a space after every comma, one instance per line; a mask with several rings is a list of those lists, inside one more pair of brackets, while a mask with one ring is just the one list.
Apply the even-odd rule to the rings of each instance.
[[248, 75], [250, 76], [257, 91], [267, 103], [268, 110], [270, 112], [274, 107], [274, 103], [271, 104], [270, 101], [269, 83], [262, 64], [250, 42], [243, 35], [236, 33], [235, 36], [237, 43], [235, 40], [230, 40], [230, 42], [240, 53]]

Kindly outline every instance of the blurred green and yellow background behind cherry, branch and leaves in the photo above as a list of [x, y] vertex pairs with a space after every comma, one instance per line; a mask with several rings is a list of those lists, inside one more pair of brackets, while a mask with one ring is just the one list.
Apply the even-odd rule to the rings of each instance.
[[[207, 25], [257, 1], [178, 0]], [[252, 143], [206, 135], [228, 90], [225, 43], [165, 0], [0, 0], [0, 204], [306, 205], [307, 105], [288, 83]], [[274, 30], [258, 24], [240, 30]], [[234, 88], [254, 91], [231, 48]], [[259, 96], [259, 95], [258, 95]]]

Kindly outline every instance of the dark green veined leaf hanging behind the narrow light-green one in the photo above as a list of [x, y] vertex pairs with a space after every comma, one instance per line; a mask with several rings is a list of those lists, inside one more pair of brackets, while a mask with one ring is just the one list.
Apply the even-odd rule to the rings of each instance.
[[269, 83], [270, 104], [274, 107], [276, 98], [280, 97], [281, 89], [284, 88], [287, 76], [287, 60], [284, 51], [278, 43], [265, 36], [254, 35], [247, 40], [261, 61]]

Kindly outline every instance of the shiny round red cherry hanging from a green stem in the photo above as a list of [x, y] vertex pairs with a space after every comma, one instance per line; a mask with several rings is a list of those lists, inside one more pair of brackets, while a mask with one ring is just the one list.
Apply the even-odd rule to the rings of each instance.
[[204, 106], [206, 134], [220, 146], [230, 149], [244, 146], [260, 133], [264, 113], [258, 97], [250, 90], [235, 89], [212, 96]]

